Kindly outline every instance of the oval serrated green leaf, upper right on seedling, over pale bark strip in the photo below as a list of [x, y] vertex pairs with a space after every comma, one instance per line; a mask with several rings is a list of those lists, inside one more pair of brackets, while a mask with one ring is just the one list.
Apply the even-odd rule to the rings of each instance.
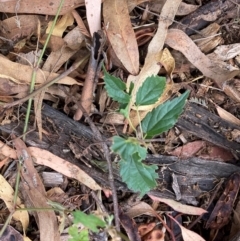
[[166, 86], [166, 78], [150, 76], [144, 81], [136, 95], [136, 106], [152, 105], [157, 102]]

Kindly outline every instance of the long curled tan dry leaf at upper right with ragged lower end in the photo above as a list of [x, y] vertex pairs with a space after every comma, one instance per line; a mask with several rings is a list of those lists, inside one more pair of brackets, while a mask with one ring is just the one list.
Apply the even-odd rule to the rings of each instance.
[[182, 52], [185, 57], [206, 77], [215, 81], [222, 88], [226, 80], [240, 73], [238, 69], [229, 70], [224, 62], [217, 62], [203, 54], [196, 44], [181, 30], [170, 29], [165, 43], [171, 48]]

